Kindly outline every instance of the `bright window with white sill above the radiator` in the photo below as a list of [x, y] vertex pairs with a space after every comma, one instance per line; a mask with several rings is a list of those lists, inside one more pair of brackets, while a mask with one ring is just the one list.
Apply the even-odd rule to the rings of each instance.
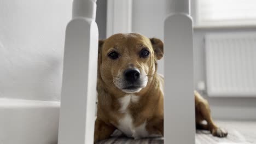
[[256, 25], [256, 0], [196, 0], [196, 26]]

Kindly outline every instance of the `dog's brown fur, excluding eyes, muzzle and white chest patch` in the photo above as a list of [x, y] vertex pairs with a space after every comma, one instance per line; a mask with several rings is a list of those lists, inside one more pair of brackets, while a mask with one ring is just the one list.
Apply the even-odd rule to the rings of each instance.
[[[150, 52], [148, 58], [140, 58], [138, 52], [147, 47]], [[119, 70], [129, 67], [145, 71], [148, 76], [147, 86], [137, 92], [136, 103], [130, 103], [127, 109], [133, 119], [133, 125], [138, 127], [147, 121], [146, 129], [149, 134], [164, 136], [164, 94], [161, 91], [164, 79], [156, 73], [157, 60], [164, 54], [164, 44], [161, 40], [148, 39], [143, 35], [115, 34], [104, 41], [99, 41], [98, 47], [98, 105], [95, 122], [95, 142], [110, 137], [124, 116], [120, 112], [119, 99], [127, 93], [114, 85], [114, 77]], [[108, 53], [117, 50], [121, 53], [119, 59], [110, 59]], [[227, 133], [213, 123], [207, 101], [195, 91], [196, 128], [210, 130], [214, 136], [223, 137]], [[202, 121], [207, 124], [202, 124]]]

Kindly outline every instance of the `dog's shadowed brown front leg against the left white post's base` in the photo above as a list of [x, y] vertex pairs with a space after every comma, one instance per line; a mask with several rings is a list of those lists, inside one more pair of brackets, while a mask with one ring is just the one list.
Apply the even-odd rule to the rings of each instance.
[[94, 143], [99, 140], [107, 139], [115, 129], [113, 125], [108, 125], [97, 118], [95, 121]]

